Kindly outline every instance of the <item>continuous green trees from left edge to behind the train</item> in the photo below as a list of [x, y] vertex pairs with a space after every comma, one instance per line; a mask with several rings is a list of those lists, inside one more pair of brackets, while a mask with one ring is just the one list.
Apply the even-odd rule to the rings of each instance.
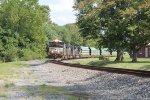
[[[60, 39], [87, 45], [75, 24], [58, 26], [50, 20], [50, 8], [38, 0], [2, 0], [0, 4], [0, 60], [46, 57], [46, 43]], [[93, 45], [93, 44], [92, 44]]]

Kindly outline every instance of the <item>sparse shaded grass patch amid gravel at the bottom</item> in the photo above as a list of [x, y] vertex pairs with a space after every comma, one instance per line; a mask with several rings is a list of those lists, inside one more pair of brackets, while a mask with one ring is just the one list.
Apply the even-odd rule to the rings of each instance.
[[27, 95], [29, 97], [34, 97], [36, 95], [38, 95], [39, 97], [43, 97], [44, 95], [51, 95], [57, 98], [61, 94], [65, 95], [67, 100], [82, 100], [82, 98], [84, 97], [74, 96], [75, 92], [65, 90], [63, 87], [55, 87], [45, 84], [39, 86], [24, 86], [21, 87], [21, 90], [29, 91]]

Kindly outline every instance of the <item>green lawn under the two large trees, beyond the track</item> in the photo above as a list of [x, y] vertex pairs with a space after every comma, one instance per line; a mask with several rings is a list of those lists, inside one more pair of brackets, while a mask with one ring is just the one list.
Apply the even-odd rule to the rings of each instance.
[[109, 61], [99, 60], [98, 58], [89, 58], [73, 60], [71, 63], [82, 65], [93, 65], [97, 67], [113, 67], [134, 70], [150, 71], [150, 58], [138, 58], [138, 62], [132, 63], [131, 58], [125, 57], [123, 62], [115, 62], [115, 57], [109, 57]]

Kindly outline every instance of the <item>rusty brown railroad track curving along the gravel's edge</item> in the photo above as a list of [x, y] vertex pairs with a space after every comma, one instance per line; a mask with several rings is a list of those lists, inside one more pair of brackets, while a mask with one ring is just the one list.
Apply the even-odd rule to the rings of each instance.
[[139, 77], [150, 77], [150, 71], [111, 68], [111, 67], [97, 67], [97, 66], [81, 65], [81, 64], [71, 64], [71, 63], [62, 62], [61, 60], [50, 60], [50, 62], [54, 63], [54, 64], [69, 66], [69, 67], [98, 70], [98, 71], [105, 71], [105, 72], [118, 73], [118, 74], [135, 75], [135, 76], [139, 76]]

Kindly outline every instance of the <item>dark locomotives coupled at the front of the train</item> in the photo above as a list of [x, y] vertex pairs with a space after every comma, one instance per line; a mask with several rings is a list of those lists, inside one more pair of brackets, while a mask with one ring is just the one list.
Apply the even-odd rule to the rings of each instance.
[[63, 41], [55, 39], [48, 43], [47, 54], [49, 58], [80, 58], [81, 49], [80, 46], [65, 44]]

